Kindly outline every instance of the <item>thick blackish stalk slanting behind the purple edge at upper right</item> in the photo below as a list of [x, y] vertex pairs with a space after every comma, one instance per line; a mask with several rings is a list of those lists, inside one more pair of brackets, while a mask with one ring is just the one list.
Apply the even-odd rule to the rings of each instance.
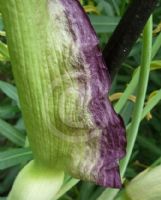
[[112, 79], [129, 55], [159, 0], [133, 0], [106, 44], [103, 55]]

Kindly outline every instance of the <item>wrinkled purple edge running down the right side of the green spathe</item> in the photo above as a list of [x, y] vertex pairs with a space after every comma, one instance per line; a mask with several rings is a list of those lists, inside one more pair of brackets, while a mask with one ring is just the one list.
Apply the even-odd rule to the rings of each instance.
[[[126, 153], [125, 126], [107, 99], [110, 87], [109, 73], [98, 47], [96, 33], [79, 1], [61, 0], [61, 2], [65, 8], [73, 38], [80, 44], [80, 58], [89, 65], [92, 90], [89, 110], [97, 128], [101, 130], [100, 156], [90, 172], [89, 180], [104, 187], [120, 188], [118, 162]], [[81, 175], [80, 177], [82, 178]]]

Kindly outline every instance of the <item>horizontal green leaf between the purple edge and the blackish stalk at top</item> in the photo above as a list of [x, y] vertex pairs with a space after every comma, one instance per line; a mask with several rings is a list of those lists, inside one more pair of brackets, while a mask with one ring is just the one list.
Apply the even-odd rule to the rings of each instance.
[[119, 17], [95, 15], [90, 15], [89, 18], [97, 33], [112, 33], [120, 20]]

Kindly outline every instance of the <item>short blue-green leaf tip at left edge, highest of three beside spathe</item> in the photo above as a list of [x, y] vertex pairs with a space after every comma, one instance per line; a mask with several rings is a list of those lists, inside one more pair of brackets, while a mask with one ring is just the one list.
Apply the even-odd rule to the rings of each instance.
[[16, 101], [17, 105], [19, 105], [19, 98], [15, 86], [5, 81], [0, 81], [0, 90], [2, 90], [2, 92], [6, 94], [8, 97]]

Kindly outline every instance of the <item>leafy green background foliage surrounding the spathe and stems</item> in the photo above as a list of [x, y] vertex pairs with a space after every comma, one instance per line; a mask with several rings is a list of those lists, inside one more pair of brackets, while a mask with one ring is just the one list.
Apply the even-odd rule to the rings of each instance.
[[[128, 0], [82, 1], [86, 12], [100, 39], [101, 48], [114, 31], [123, 15]], [[161, 3], [161, 1], [160, 1]], [[132, 20], [132, 19], [130, 19]], [[130, 21], [129, 21], [130, 23]], [[153, 18], [153, 69], [150, 73], [146, 102], [161, 89], [161, 6], [155, 10]], [[125, 27], [126, 29], [126, 27]], [[157, 42], [156, 42], [157, 41]], [[122, 64], [119, 74], [113, 81], [111, 100], [118, 100], [127, 88], [135, 69], [140, 65], [142, 34], [133, 47], [128, 59]], [[137, 88], [136, 88], [137, 90]], [[136, 90], [130, 93], [120, 114], [126, 124], [131, 120]], [[115, 95], [114, 95], [115, 94]], [[160, 95], [161, 96], [161, 95]], [[115, 103], [115, 102], [113, 102]], [[161, 161], [161, 102], [141, 123], [135, 147], [126, 170], [126, 185], [138, 173]], [[3, 19], [0, 16], [0, 199], [7, 196], [19, 170], [32, 159], [32, 152], [26, 140], [26, 131], [21, 116], [21, 108], [12, 75]], [[156, 162], [157, 161], [157, 162]], [[77, 184], [76, 184], [77, 183]], [[73, 186], [73, 187], [72, 187]], [[92, 183], [66, 177], [58, 197], [61, 200], [109, 200], [101, 195], [105, 189]], [[119, 195], [119, 194], [118, 194]]]

